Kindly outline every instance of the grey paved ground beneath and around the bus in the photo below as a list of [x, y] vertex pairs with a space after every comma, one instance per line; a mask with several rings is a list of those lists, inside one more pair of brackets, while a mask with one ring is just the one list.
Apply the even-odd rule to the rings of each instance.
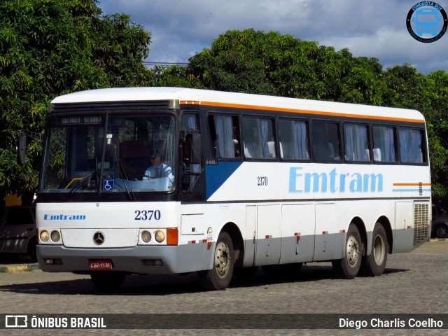
[[[128, 276], [116, 293], [99, 293], [89, 276], [38, 269], [22, 272], [28, 265], [36, 265], [30, 261], [1, 261], [0, 314], [448, 313], [448, 241], [444, 240], [432, 240], [412, 253], [388, 255], [383, 276], [335, 279], [330, 263], [309, 263], [302, 267], [298, 279], [271, 279], [260, 270], [249, 281], [235, 280], [227, 290], [212, 292], [202, 290], [195, 274], [190, 274]], [[27, 331], [48, 335], [48, 330], [8, 335], [29, 335]], [[84, 335], [88, 331], [95, 330], [66, 330], [64, 335]], [[148, 335], [148, 331], [150, 335], [448, 335], [448, 329], [107, 331], [107, 335]]]

